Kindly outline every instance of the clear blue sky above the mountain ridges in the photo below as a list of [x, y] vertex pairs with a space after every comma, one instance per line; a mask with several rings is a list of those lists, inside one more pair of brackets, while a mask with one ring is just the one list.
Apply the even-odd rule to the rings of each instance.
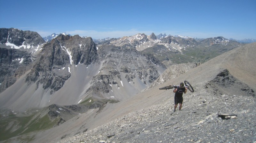
[[137, 33], [256, 39], [256, 0], [1, 0], [0, 28], [93, 39]]

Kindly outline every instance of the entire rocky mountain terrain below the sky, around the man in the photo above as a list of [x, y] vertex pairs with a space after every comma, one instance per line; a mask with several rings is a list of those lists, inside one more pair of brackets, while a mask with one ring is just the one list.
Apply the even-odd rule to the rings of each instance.
[[[256, 141], [255, 43], [154, 33], [98, 42], [60, 34], [49, 42], [15, 28], [0, 33], [0, 142], [186, 142], [185, 131], [191, 142], [217, 141], [203, 133], [192, 139], [189, 129], [221, 136], [212, 128], [225, 126], [217, 112], [237, 115], [225, 123], [241, 139], [220, 140]], [[159, 88], [184, 80], [195, 92], [172, 113], [171, 90]]]

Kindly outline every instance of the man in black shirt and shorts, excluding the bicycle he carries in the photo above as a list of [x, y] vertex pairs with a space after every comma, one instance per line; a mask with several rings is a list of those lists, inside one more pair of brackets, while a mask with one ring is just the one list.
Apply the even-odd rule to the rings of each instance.
[[173, 92], [175, 93], [175, 96], [174, 96], [174, 109], [173, 109], [173, 112], [176, 111], [176, 107], [178, 106], [178, 103], [180, 104], [179, 106], [179, 110], [181, 110], [182, 108], [182, 102], [183, 102], [183, 92], [186, 94], [187, 93], [187, 87], [184, 87], [184, 83], [181, 82], [180, 83], [180, 86], [177, 86], [177, 88], [175, 88], [173, 90]]

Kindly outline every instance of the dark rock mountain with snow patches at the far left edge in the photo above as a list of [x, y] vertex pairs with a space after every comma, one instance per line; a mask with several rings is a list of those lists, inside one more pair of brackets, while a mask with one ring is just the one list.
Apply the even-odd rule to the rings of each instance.
[[29, 70], [28, 65], [43, 44], [44, 40], [36, 32], [0, 28], [0, 93]]

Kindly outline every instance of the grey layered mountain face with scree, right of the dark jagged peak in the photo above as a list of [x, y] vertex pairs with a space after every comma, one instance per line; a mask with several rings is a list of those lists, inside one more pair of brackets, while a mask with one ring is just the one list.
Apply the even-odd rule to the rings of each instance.
[[86, 93], [97, 93], [100, 97], [132, 96], [150, 85], [165, 69], [152, 56], [147, 57], [134, 48], [103, 45], [98, 54], [102, 68], [92, 77]]

